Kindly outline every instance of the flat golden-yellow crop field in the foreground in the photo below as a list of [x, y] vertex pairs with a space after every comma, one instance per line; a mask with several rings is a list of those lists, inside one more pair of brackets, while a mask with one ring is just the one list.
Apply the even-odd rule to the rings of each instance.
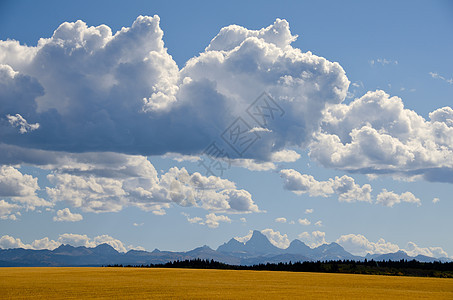
[[453, 279], [275, 271], [0, 268], [1, 299], [453, 299]]

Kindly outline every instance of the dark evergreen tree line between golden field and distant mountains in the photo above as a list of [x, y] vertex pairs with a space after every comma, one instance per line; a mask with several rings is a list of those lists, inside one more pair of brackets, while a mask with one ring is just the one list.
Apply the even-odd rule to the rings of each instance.
[[267, 270], [290, 272], [350, 273], [370, 275], [421, 276], [453, 278], [453, 262], [419, 262], [416, 260], [400, 261], [304, 261], [258, 264], [253, 266], [229, 265], [208, 259], [176, 260], [163, 264], [145, 265], [108, 265], [107, 267], [135, 268], [189, 268], [189, 269], [224, 269], [224, 270]]

